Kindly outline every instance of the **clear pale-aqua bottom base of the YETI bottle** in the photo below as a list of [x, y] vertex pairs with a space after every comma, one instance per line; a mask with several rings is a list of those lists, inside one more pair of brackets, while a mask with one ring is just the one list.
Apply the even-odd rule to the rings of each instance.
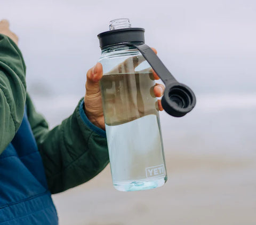
[[139, 191], [158, 188], [164, 185], [167, 176], [154, 180], [138, 180], [132, 182], [114, 182], [113, 185], [118, 191]]

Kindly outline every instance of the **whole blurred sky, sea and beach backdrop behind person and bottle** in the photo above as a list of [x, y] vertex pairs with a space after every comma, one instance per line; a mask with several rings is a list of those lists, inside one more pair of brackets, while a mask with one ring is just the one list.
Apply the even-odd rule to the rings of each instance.
[[83, 97], [100, 57], [97, 35], [117, 18], [145, 28], [146, 43], [197, 96], [185, 117], [161, 112], [163, 187], [119, 192], [107, 166], [53, 196], [60, 225], [256, 224], [255, 12], [254, 0], [0, 0], [0, 19], [19, 36], [28, 92], [50, 127]]

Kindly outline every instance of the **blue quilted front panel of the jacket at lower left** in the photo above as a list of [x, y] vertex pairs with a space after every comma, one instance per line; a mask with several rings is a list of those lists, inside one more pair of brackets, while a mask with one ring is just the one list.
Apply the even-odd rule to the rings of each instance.
[[58, 224], [27, 114], [0, 155], [0, 224]]

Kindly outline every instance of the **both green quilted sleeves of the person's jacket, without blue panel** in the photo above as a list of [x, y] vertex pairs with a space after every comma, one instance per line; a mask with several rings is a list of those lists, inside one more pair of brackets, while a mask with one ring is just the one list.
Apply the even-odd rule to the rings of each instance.
[[105, 131], [87, 119], [83, 99], [73, 115], [49, 130], [26, 92], [25, 73], [17, 45], [0, 35], [0, 154], [19, 130], [26, 110], [51, 193], [92, 179], [109, 162]]

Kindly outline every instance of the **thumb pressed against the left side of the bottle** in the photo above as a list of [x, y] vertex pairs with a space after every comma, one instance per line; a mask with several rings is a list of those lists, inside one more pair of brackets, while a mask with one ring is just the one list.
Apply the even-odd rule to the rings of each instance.
[[87, 94], [97, 94], [100, 92], [99, 81], [102, 78], [102, 75], [103, 70], [100, 62], [87, 71], [85, 83]]

